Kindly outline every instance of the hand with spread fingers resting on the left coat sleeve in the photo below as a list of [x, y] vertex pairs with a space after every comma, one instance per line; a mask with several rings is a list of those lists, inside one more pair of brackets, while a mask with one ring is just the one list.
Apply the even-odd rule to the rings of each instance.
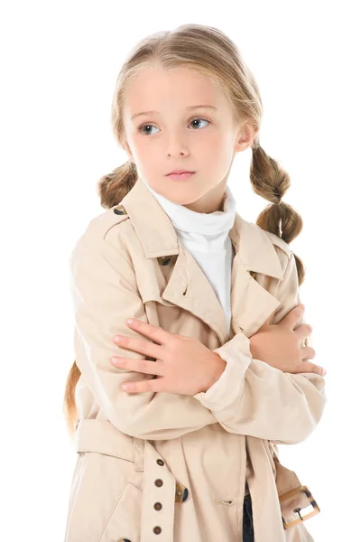
[[[134, 360], [120, 356], [111, 358], [115, 367], [157, 376], [141, 382], [126, 382], [127, 392], [165, 391], [196, 395], [207, 391], [226, 368], [225, 360], [196, 339], [166, 332], [161, 327], [154, 327], [136, 319], [133, 319], [133, 323], [128, 322], [128, 325], [159, 345], [116, 335], [120, 340], [117, 341], [115, 337], [114, 341], [122, 348], [134, 350], [155, 360]], [[122, 388], [125, 389], [124, 386]]]

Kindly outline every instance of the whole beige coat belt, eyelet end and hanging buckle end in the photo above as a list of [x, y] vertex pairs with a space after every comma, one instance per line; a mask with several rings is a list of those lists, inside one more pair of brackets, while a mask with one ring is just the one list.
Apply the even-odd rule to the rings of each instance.
[[[251, 439], [258, 440], [258, 439]], [[152, 441], [125, 435], [111, 422], [99, 419], [80, 419], [75, 435], [77, 452], [94, 452], [113, 455], [119, 459], [134, 463], [134, 471], [143, 474], [143, 502], [141, 519], [141, 542], [148, 542], [152, 535], [159, 536], [160, 542], [173, 542], [174, 506], [184, 502], [188, 497], [188, 489], [175, 480], [166, 462], [158, 453]], [[273, 446], [272, 446], [273, 447]], [[273, 459], [276, 465], [276, 489], [282, 518], [287, 519], [295, 509], [303, 509], [310, 505], [313, 511], [306, 516], [319, 512], [307, 486], [302, 486], [296, 473], [284, 467], [278, 460], [278, 453], [273, 448]], [[251, 497], [254, 492], [254, 481], [249, 480]], [[162, 510], [162, 514], [160, 514]], [[285, 521], [283, 528], [296, 526], [301, 519]]]

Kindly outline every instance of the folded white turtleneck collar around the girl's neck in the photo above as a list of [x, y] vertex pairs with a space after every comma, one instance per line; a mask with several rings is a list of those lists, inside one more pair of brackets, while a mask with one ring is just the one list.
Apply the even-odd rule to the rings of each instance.
[[[214, 237], [221, 233], [228, 234], [233, 227], [236, 218], [236, 200], [229, 186], [226, 188], [226, 199], [224, 201], [223, 210], [215, 210], [210, 213], [197, 212], [190, 210], [180, 203], [164, 198], [144, 179], [139, 179], [153, 193], [154, 198], [160, 203], [162, 209], [170, 217], [175, 229], [180, 232], [198, 233], [204, 236]], [[221, 236], [223, 237], [223, 236]]]

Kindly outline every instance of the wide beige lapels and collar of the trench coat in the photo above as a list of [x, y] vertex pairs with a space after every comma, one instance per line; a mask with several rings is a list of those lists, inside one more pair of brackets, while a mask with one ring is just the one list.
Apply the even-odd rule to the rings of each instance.
[[[180, 243], [171, 219], [142, 179], [135, 182], [121, 204], [140, 239], [146, 258], [178, 256], [162, 294], [154, 291], [152, 281], [140, 285], [143, 303], [155, 300], [162, 304], [177, 304], [208, 323], [222, 344], [227, 341], [226, 315], [213, 287], [190, 252]], [[282, 279], [282, 266], [267, 233], [244, 220], [237, 212], [229, 236], [236, 252], [231, 278], [231, 332], [242, 331], [250, 336], [280, 305], [250, 272]]]

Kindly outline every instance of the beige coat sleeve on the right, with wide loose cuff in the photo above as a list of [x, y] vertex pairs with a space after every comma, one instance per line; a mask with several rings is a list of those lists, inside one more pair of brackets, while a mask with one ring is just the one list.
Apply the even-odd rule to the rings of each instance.
[[[278, 323], [301, 303], [293, 253], [279, 286], [282, 302], [274, 314]], [[318, 425], [326, 403], [325, 379], [316, 373], [288, 373], [252, 359], [250, 341], [243, 333], [214, 350], [227, 361], [218, 381], [199, 402], [207, 406], [229, 433], [297, 444]]]

